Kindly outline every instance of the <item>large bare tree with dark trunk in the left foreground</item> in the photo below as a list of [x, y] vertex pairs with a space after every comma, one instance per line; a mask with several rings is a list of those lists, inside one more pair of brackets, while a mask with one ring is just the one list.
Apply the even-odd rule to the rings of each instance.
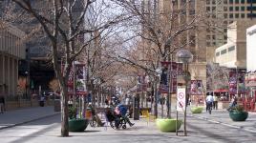
[[[94, 36], [84, 36], [85, 34], [99, 31], [103, 32], [123, 20], [121, 14], [113, 14], [111, 17], [96, 22], [94, 27], [84, 25], [87, 14], [93, 10], [94, 2], [91, 0], [53, 0], [40, 1], [45, 8], [36, 7], [32, 0], [13, 0], [22, 10], [26, 10], [34, 19], [38, 21], [47, 37], [51, 41], [53, 69], [60, 86], [61, 94], [61, 136], [68, 136], [68, 89], [67, 81], [75, 61], [75, 58], [85, 50], [85, 48], [96, 38]], [[80, 3], [82, 2], [82, 3]], [[102, 5], [105, 3], [102, 3]], [[75, 6], [80, 6], [80, 10], [75, 10]], [[109, 8], [110, 5], [105, 8]], [[103, 12], [104, 9], [99, 10]], [[98, 11], [96, 11], [98, 12]], [[104, 14], [102, 14], [103, 17]], [[89, 23], [89, 22], [88, 22]], [[83, 37], [85, 40], [81, 40]], [[63, 53], [61, 55], [61, 53]], [[61, 65], [58, 62], [62, 56], [64, 68], [61, 72]]]

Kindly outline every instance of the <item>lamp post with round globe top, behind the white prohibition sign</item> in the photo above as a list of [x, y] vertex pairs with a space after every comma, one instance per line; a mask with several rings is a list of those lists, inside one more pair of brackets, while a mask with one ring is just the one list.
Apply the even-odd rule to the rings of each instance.
[[185, 81], [185, 107], [184, 107], [184, 136], [186, 133], [186, 103], [187, 103], [187, 84], [190, 80], [190, 73], [188, 72], [188, 65], [193, 61], [193, 54], [188, 50], [180, 50], [176, 53], [177, 62], [182, 63], [184, 67], [184, 81]]

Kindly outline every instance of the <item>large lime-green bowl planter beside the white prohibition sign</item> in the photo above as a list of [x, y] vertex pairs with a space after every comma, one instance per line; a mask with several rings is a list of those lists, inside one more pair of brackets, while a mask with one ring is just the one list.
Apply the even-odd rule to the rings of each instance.
[[177, 123], [177, 129], [179, 130], [181, 128], [181, 120], [176, 119], [163, 119], [158, 118], [156, 120], [157, 127], [160, 129], [163, 133], [175, 133], [176, 132], [176, 123]]

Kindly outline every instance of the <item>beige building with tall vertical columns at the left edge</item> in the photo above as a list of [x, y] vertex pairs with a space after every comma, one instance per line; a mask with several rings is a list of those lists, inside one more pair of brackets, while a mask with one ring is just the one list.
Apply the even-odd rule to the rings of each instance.
[[17, 92], [18, 65], [26, 57], [25, 32], [11, 26], [0, 28], [0, 94], [14, 96]]

